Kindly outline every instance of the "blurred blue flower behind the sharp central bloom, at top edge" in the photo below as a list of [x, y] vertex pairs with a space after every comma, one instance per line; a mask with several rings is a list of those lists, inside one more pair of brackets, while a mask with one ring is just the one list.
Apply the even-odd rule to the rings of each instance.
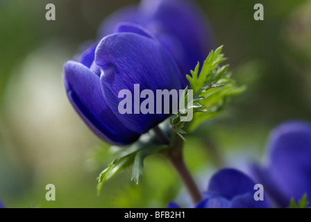
[[184, 78], [212, 49], [208, 20], [193, 1], [143, 0], [138, 6], [121, 8], [103, 21], [99, 37], [113, 33], [120, 22], [140, 24], [152, 33], [176, 60]]

